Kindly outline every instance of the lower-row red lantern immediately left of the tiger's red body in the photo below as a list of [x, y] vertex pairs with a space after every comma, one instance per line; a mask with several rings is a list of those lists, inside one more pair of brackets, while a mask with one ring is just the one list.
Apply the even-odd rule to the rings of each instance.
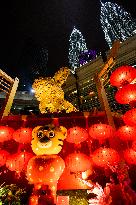
[[33, 157], [29, 152], [20, 152], [8, 157], [6, 166], [10, 171], [26, 171], [28, 161]]

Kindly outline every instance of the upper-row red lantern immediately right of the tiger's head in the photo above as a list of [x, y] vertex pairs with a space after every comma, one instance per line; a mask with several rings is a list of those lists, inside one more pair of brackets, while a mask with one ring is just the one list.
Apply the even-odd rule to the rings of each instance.
[[68, 129], [66, 141], [70, 143], [81, 143], [88, 138], [88, 132], [81, 127], [72, 127]]

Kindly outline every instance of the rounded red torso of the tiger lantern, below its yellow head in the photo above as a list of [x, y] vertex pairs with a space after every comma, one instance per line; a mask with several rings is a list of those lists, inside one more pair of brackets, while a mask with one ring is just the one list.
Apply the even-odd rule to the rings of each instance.
[[27, 179], [32, 184], [51, 184], [58, 181], [65, 168], [64, 160], [57, 155], [35, 156], [27, 166]]

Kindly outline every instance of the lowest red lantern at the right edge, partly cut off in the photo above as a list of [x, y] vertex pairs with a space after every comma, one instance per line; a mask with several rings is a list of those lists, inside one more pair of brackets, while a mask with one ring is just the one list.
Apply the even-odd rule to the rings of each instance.
[[133, 149], [125, 150], [124, 159], [128, 164], [136, 164], [136, 151]]

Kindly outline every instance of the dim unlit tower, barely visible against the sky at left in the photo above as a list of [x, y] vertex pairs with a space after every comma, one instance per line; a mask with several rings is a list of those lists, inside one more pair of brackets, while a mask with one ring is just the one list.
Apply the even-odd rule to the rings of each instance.
[[[45, 43], [27, 39], [20, 59], [21, 67], [27, 71], [26, 80], [33, 83], [33, 80], [46, 75], [48, 50]], [[28, 79], [29, 77], [29, 79]]]

